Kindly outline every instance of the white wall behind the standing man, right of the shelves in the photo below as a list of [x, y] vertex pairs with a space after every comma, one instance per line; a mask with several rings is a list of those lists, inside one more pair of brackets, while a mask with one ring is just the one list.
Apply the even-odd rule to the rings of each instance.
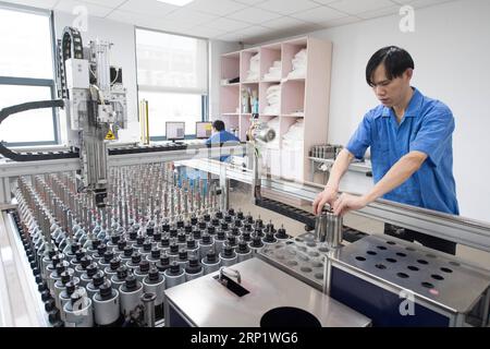
[[366, 84], [370, 56], [401, 46], [415, 60], [413, 85], [453, 110], [454, 174], [461, 215], [490, 221], [490, 1], [460, 0], [415, 11], [415, 33], [393, 15], [331, 29], [333, 43], [329, 142], [345, 144], [364, 113], [378, 105]]

